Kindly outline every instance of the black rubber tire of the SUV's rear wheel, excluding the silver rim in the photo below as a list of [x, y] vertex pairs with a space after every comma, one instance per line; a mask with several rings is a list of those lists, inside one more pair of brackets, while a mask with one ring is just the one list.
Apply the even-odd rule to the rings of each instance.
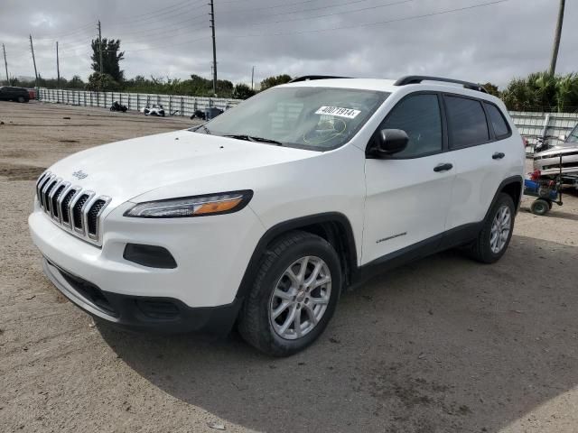
[[[490, 236], [491, 227], [494, 222], [494, 218], [498, 213], [499, 209], [503, 206], [507, 206], [510, 215], [510, 228], [508, 233], [508, 238], [505, 244], [501, 247], [498, 253], [492, 251], [490, 246]], [[508, 249], [508, 244], [512, 238], [512, 233], [514, 232], [514, 220], [516, 216], [516, 209], [514, 207], [514, 201], [508, 194], [500, 192], [498, 199], [493, 204], [489, 210], [488, 217], [484, 221], [483, 227], [480, 230], [478, 238], [471, 244], [471, 249], [469, 251], [471, 257], [481, 263], [495, 263], [498, 262], [506, 250]]]

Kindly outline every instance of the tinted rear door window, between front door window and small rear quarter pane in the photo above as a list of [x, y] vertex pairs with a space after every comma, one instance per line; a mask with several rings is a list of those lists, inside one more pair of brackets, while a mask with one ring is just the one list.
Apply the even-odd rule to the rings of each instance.
[[480, 101], [447, 95], [444, 101], [452, 149], [489, 142], [488, 123]]

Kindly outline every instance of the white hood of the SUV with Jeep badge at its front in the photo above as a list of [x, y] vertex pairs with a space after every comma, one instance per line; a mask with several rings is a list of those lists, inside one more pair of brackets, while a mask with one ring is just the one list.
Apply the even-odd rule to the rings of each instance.
[[93, 147], [56, 162], [48, 170], [82, 189], [108, 196], [113, 205], [118, 205], [153, 189], [184, 181], [318, 154], [183, 130]]

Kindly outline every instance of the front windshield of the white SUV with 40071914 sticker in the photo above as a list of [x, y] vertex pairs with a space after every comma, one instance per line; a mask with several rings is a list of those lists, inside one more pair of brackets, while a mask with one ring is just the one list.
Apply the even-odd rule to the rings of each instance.
[[326, 151], [349, 142], [388, 96], [350, 88], [272, 88], [190, 131]]

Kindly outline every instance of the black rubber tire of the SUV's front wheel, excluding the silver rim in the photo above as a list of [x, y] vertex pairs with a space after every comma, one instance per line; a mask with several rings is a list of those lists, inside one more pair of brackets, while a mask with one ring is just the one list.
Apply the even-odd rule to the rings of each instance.
[[[270, 319], [272, 294], [285, 270], [305, 256], [321, 258], [331, 273], [331, 293], [327, 309], [307, 334], [286, 339], [277, 334]], [[322, 237], [294, 231], [275, 239], [267, 247], [256, 279], [239, 313], [238, 331], [248, 344], [267, 355], [289, 356], [303, 350], [319, 337], [329, 323], [341, 290], [340, 259], [331, 244]], [[301, 312], [299, 314], [302, 314]]]

